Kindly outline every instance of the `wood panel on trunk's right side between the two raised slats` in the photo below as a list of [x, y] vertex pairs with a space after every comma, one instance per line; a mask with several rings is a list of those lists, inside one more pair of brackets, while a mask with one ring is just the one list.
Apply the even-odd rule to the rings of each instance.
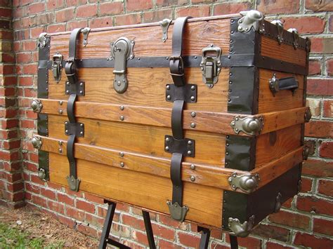
[[256, 140], [256, 168], [301, 146], [301, 125], [259, 135]]

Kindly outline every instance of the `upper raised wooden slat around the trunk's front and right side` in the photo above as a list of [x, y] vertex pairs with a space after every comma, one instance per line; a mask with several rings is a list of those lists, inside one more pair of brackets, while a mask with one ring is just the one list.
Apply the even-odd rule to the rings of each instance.
[[[41, 112], [46, 114], [58, 114], [67, 116], [67, 100], [47, 100], [39, 99], [43, 105]], [[75, 115], [79, 118], [100, 119], [105, 121], [117, 121], [120, 123], [137, 123], [148, 126], [171, 127], [171, 109], [140, 106], [123, 106], [96, 102], [76, 102]], [[261, 134], [269, 133], [273, 130], [293, 126], [303, 123], [304, 112], [308, 107], [290, 109], [282, 112], [270, 112], [262, 114], [264, 126]], [[61, 111], [61, 112], [60, 112]], [[195, 117], [191, 113], [195, 112]], [[209, 133], [233, 134], [230, 123], [238, 114], [220, 112], [202, 112], [195, 109], [183, 112], [183, 128], [187, 130], [200, 130]], [[124, 116], [124, 121], [119, 119]], [[195, 128], [191, 128], [191, 123], [195, 123]], [[240, 135], [247, 135], [240, 133]]]

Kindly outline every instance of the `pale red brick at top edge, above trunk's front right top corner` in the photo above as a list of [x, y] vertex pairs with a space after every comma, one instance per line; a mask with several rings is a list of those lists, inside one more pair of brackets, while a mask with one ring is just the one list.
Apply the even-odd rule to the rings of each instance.
[[259, 0], [256, 1], [256, 8], [264, 14], [293, 14], [299, 13], [299, 1]]

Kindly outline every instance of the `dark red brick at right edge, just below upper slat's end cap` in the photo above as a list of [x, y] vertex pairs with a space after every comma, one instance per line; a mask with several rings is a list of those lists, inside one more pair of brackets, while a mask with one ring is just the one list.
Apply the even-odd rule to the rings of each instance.
[[333, 122], [310, 121], [305, 125], [307, 137], [333, 137]]

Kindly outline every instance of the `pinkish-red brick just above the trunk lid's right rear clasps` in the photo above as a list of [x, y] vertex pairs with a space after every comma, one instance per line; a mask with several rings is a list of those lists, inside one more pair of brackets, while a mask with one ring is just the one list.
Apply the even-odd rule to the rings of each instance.
[[296, 28], [299, 34], [320, 34], [324, 32], [326, 21], [316, 16], [283, 18], [285, 29]]

